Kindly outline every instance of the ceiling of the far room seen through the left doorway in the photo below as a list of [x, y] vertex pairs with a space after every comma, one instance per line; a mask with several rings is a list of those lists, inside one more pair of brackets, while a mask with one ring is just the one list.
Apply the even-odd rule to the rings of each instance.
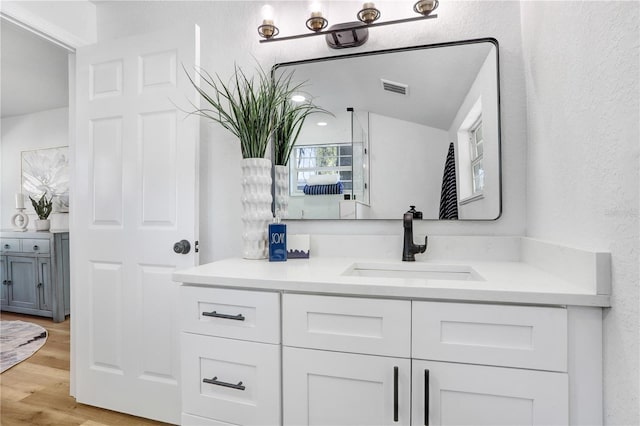
[[69, 52], [0, 20], [2, 118], [69, 105]]

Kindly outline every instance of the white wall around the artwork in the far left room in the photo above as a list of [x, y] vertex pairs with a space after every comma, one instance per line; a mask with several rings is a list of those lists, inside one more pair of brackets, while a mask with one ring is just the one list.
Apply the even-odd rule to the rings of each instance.
[[[69, 111], [57, 108], [35, 114], [18, 115], [2, 119], [0, 158], [2, 159], [2, 184], [0, 186], [0, 227], [10, 229], [11, 216], [15, 210], [15, 194], [21, 192], [21, 152], [33, 149], [56, 148], [69, 145]], [[28, 229], [34, 229], [37, 219], [28, 199], [25, 200], [29, 214]], [[53, 213], [52, 229], [68, 229], [68, 213]]]

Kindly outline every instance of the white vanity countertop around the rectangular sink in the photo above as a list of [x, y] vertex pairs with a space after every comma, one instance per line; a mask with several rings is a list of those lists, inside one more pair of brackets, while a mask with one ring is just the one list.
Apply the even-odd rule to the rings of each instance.
[[286, 262], [233, 258], [176, 271], [173, 279], [189, 284], [296, 293], [534, 305], [610, 306], [608, 294], [590, 292], [583, 286], [523, 262], [415, 262], [416, 265], [468, 265], [483, 278], [480, 281], [343, 275], [354, 263], [367, 262], [391, 266], [408, 263], [345, 257], [291, 259]]

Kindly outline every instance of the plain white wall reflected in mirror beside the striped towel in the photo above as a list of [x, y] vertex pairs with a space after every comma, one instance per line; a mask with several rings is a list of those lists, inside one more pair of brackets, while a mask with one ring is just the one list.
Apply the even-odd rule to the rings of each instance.
[[371, 113], [369, 132], [369, 217], [401, 218], [414, 205], [437, 218], [447, 131]]

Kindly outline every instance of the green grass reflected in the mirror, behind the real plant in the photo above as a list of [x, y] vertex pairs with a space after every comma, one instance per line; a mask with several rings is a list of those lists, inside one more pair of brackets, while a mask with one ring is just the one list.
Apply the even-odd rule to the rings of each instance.
[[309, 114], [322, 112], [331, 114], [324, 108], [320, 108], [313, 104], [312, 101], [293, 102], [286, 99], [278, 108], [277, 121], [279, 123], [273, 137], [274, 159], [273, 162], [279, 166], [286, 166], [291, 156], [293, 146], [300, 136], [302, 125]]

